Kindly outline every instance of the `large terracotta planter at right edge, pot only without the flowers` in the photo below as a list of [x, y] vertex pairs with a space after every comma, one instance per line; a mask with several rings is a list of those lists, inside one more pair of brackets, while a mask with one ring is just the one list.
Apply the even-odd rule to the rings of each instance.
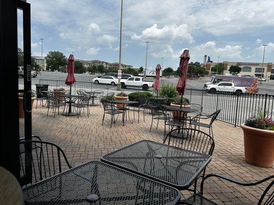
[[241, 124], [244, 131], [245, 160], [251, 165], [272, 167], [274, 160], [274, 131], [251, 128]]

